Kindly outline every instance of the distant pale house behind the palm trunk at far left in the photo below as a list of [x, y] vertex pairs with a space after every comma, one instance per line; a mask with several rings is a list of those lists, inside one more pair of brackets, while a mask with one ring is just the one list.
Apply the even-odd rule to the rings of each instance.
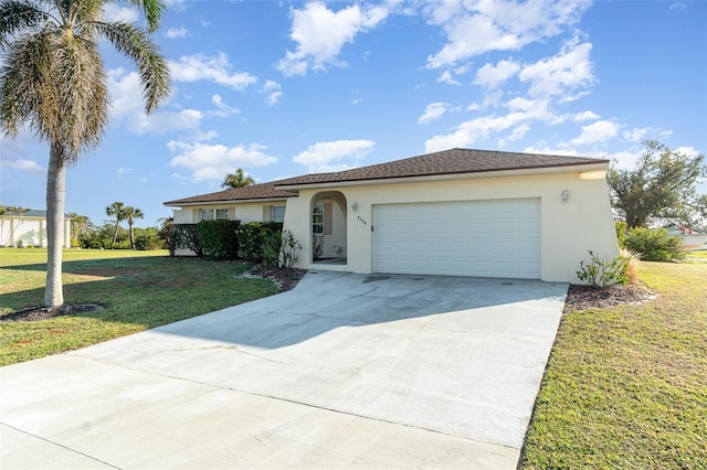
[[[46, 247], [46, 211], [8, 212], [0, 216], [0, 246]], [[64, 247], [71, 246], [71, 217], [64, 215]]]

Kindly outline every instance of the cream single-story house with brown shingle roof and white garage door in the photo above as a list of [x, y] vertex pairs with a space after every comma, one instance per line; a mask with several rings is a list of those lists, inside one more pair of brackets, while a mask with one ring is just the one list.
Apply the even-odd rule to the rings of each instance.
[[298, 267], [578, 281], [619, 254], [609, 160], [452, 149], [166, 202], [175, 223], [283, 221]]

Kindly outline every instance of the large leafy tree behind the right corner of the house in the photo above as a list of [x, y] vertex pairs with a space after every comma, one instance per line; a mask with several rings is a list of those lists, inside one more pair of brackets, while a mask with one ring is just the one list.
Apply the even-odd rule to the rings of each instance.
[[644, 146], [634, 170], [609, 169], [612, 205], [629, 227], [645, 226], [652, 218], [688, 222], [698, 200], [697, 179], [707, 174], [705, 157], [692, 158], [656, 140]]

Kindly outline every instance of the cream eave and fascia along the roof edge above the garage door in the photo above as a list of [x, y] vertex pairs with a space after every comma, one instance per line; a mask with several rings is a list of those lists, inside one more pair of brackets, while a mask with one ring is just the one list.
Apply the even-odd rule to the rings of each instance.
[[476, 180], [485, 178], [528, 177], [538, 174], [582, 173], [588, 171], [605, 171], [609, 160], [588, 161], [582, 163], [555, 164], [551, 167], [515, 168], [511, 170], [483, 170], [462, 173], [426, 174], [415, 177], [388, 177], [366, 180], [331, 181], [316, 183], [295, 183], [275, 186], [283, 191], [300, 191], [305, 189], [320, 189], [333, 186], [362, 186], [380, 184], [400, 184], [425, 181]]

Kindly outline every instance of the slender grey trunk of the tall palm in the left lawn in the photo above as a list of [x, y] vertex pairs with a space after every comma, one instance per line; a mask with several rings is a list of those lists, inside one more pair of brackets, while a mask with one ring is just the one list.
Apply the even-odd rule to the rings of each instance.
[[44, 305], [59, 307], [64, 303], [62, 287], [62, 248], [64, 245], [64, 200], [66, 196], [66, 165], [62, 148], [52, 143], [46, 173], [46, 286]]

